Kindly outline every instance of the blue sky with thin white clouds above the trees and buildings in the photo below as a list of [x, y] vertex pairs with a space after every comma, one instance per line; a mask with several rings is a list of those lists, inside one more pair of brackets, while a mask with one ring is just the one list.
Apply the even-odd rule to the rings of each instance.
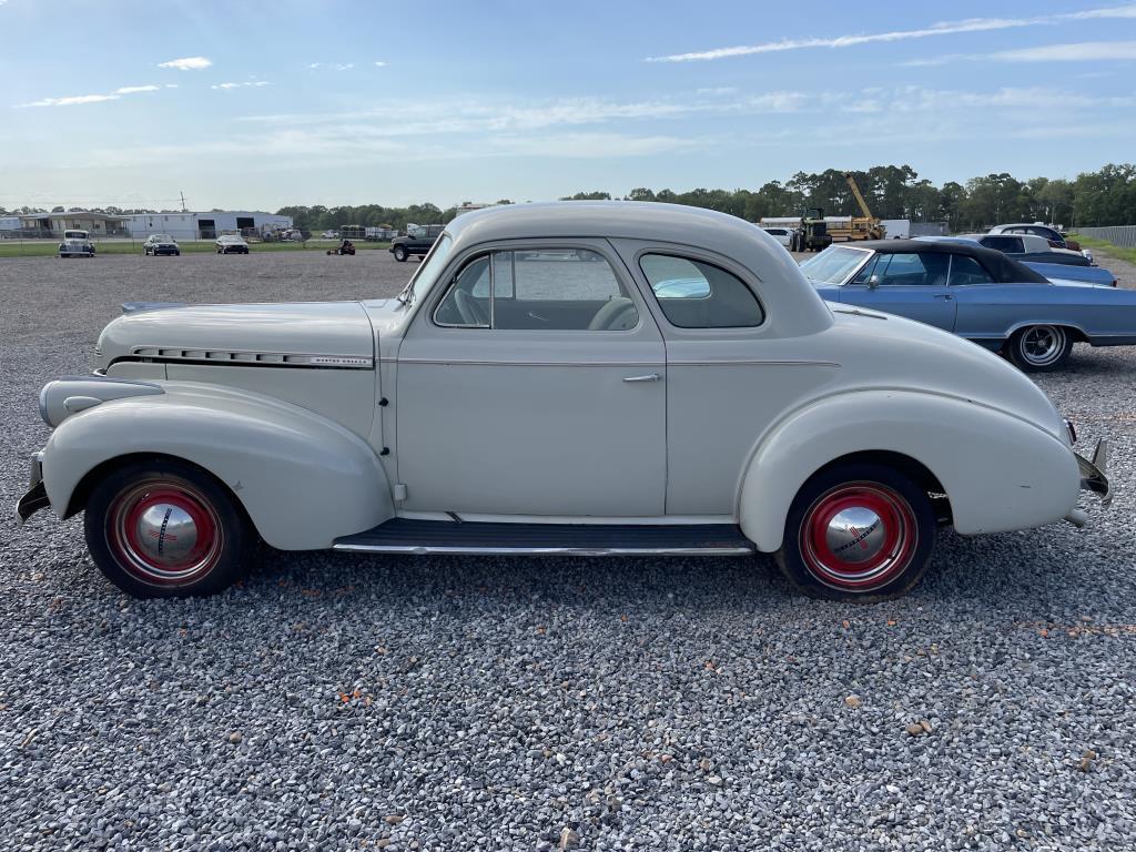
[[936, 184], [1136, 159], [1136, 2], [0, 0], [0, 206]]

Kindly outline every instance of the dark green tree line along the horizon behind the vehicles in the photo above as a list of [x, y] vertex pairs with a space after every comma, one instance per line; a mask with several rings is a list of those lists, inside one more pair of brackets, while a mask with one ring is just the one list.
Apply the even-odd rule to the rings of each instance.
[[[1067, 227], [1136, 224], [1136, 165], [1109, 164], [1096, 172], [1084, 172], [1072, 181], [1031, 177], [1019, 181], [1008, 173], [972, 177], [966, 183], [947, 181], [936, 186], [910, 166], [874, 166], [853, 172], [871, 212], [882, 219], [946, 222], [953, 232], [979, 231], [1008, 222], [1049, 222]], [[561, 200], [611, 199], [604, 191], [578, 192]], [[616, 197], [618, 198], [618, 197]], [[785, 182], [769, 181], [757, 190], [654, 191], [645, 186], [632, 190], [624, 200], [665, 201], [703, 207], [730, 214], [749, 222], [768, 216], [797, 216], [805, 208], [820, 207], [827, 216], [855, 216], [859, 206], [844, 179], [844, 172], [825, 169], [797, 172]], [[501, 199], [499, 204], [512, 203]], [[80, 208], [70, 208], [78, 210]], [[173, 210], [120, 210], [115, 207], [90, 208], [95, 212], [176, 212]], [[56, 211], [62, 211], [57, 208]], [[0, 208], [0, 216], [6, 210]], [[23, 207], [12, 214], [47, 212]], [[409, 207], [361, 204], [324, 207], [294, 204], [276, 211], [291, 216], [295, 227], [318, 233], [342, 225], [387, 226], [399, 231], [410, 223], [445, 223], [458, 215], [458, 207], [438, 208], [432, 203]]]

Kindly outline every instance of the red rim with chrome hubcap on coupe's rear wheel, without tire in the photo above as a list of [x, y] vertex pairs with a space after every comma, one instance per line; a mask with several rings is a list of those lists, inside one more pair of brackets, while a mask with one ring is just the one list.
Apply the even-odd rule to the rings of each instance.
[[914, 512], [878, 483], [846, 483], [817, 498], [800, 533], [804, 565], [832, 588], [883, 588], [911, 563], [919, 543]]

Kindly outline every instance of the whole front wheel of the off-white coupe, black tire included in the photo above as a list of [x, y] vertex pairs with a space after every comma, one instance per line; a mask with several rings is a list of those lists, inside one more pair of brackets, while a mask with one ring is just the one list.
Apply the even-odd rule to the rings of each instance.
[[83, 529], [94, 563], [134, 598], [216, 594], [240, 579], [258, 543], [228, 488], [195, 465], [160, 457], [105, 476]]

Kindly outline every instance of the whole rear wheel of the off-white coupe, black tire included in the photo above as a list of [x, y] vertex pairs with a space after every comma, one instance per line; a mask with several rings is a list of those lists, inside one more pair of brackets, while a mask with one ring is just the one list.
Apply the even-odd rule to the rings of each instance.
[[936, 531], [925, 490], [884, 465], [850, 462], [801, 487], [776, 559], [786, 579], [811, 598], [889, 600], [922, 579]]

